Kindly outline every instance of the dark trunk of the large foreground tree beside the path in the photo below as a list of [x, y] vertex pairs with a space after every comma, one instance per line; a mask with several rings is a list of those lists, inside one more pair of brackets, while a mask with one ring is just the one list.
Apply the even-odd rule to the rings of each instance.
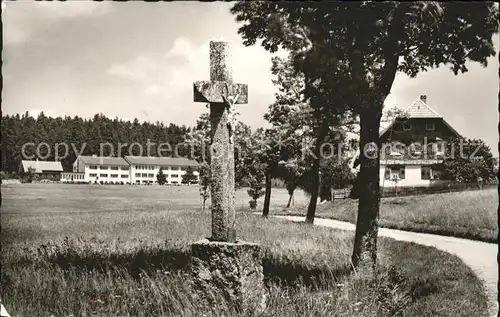
[[[382, 109], [382, 107], [380, 107]], [[360, 162], [357, 191], [359, 195], [358, 220], [352, 262], [355, 268], [366, 268], [374, 272], [377, 262], [377, 235], [380, 208], [380, 139], [379, 114], [364, 112], [360, 115]], [[369, 145], [376, 146], [376, 152], [367, 151]], [[368, 146], [367, 146], [368, 145]]]

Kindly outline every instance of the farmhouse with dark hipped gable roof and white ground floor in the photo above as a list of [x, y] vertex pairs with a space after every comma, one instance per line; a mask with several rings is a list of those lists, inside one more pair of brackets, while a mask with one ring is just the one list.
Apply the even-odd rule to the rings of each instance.
[[440, 180], [447, 141], [462, 138], [422, 95], [380, 133], [381, 187], [429, 187]]

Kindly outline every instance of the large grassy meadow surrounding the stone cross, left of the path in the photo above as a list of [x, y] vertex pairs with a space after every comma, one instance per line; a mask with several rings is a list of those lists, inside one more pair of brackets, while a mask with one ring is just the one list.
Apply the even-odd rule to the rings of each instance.
[[[12, 316], [224, 313], [199, 307], [185, 272], [190, 243], [210, 229], [196, 187], [23, 184], [2, 186], [2, 198], [1, 298]], [[274, 190], [272, 204], [287, 198]], [[455, 256], [380, 238], [380, 277], [367, 287], [348, 274], [353, 233], [264, 220], [248, 200], [237, 194], [237, 232], [263, 247], [263, 316], [486, 315], [483, 286]], [[306, 201], [298, 194], [294, 208]]]

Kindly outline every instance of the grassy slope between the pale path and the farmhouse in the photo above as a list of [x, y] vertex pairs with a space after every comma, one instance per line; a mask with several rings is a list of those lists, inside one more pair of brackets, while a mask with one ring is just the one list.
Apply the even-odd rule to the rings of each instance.
[[[273, 206], [271, 213], [305, 216], [305, 206]], [[316, 216], [356, 223], [357, 208], [357, 200], [339, 199], [319, 204]], [[382, 198], [379, 225], [496, 243], [497, 208], [495, 189]]]

